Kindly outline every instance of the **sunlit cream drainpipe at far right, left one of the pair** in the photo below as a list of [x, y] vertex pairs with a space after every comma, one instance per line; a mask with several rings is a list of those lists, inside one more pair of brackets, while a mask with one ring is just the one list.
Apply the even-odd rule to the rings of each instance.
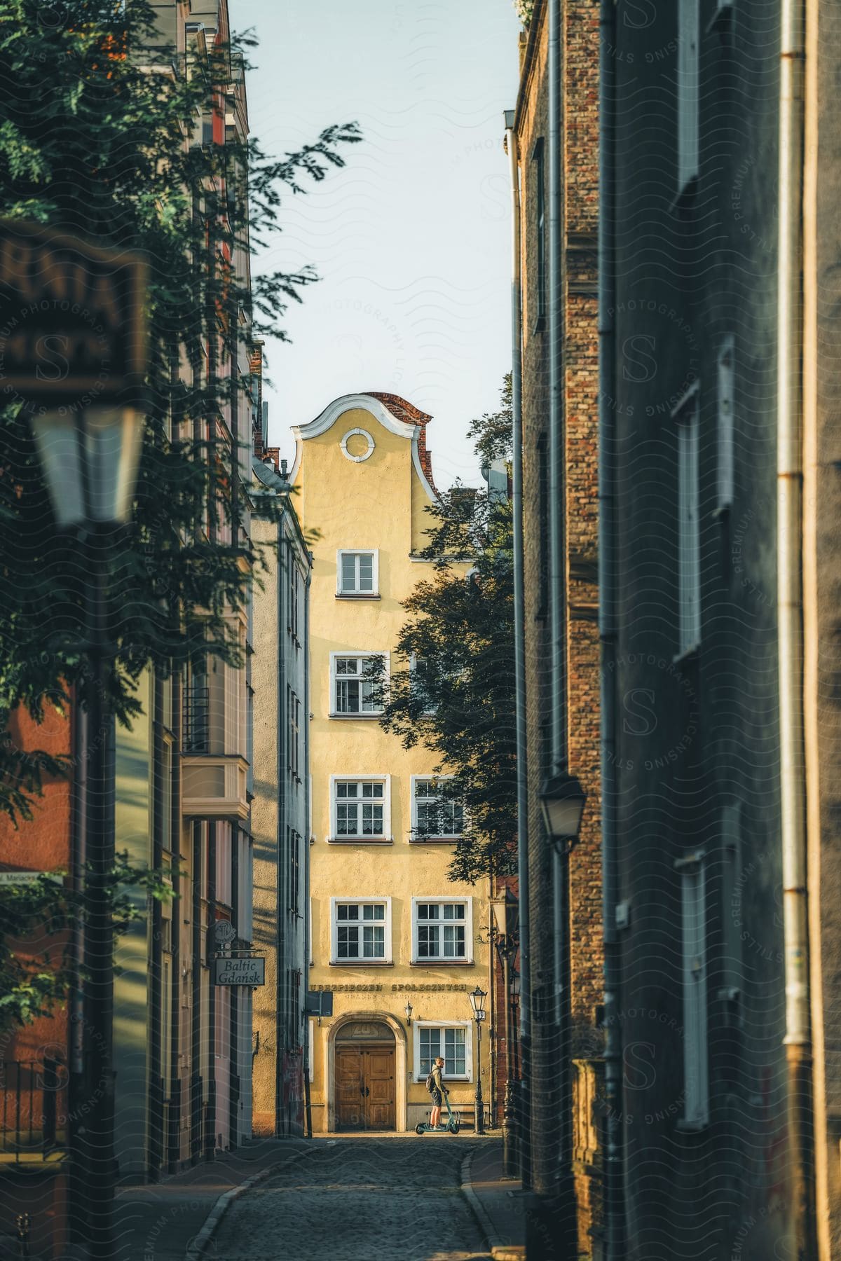
[[796, 1256], [816, 1255], [803, 744], [803, 0], [780, 3], [777, 257], [777, 624], [786, 1059]]

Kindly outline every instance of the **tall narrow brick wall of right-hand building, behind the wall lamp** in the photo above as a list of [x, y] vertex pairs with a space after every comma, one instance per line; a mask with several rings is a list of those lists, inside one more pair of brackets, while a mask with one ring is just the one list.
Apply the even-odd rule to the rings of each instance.
[[[550, 641], [546, 572], [548, 499], [548, 346], [537, 311], [538, 227], [536, 154], [543, 141], [548, 204], [547, 4], [536, 5], [522, 62], [517, 142], [522, 179], [523, 274], [523, 512], [526, 583], [526, 689], [528, 748], [528, 854], [533, 1005], [532, 1132], [540, 1145], [559, 1139], [557, 1031], [543, 1024], [540, 991], [554, 990], [554, 902], [551, 854], [542, 836], [538, 792], [547, 774], [550, 719]], [[572, 1044], [580, 1062], [598, 1058], [600, 1033], [594, 1015], [603, 995], [601, 854], [599, 786], [599, 633], [598, 633], [598, 0], [562, 6], [564, 92], [564, 453], [562, 512], [566, 543], [564, 599], [567, 681], [569, 768], [588, 794], [579, 844], [570, 859]], [[543, 482], [543, 485], [541, 485]], [[545, 987], [545, 989], [543, 989]], [[577, 1100], [577, 1090], [576, 1090]], [[589, 1105], [588, 1105], [589, 1106]], [[594, 1105], [593, 1105], [594, 1106]], [[545, 1156], [548, 1160], [547, 1154]], [[537, 1164], [541, 1163], [540, 1151]], [[591, 1255], [599, 1223], [598, 1160], [576, 1166], [579, 1236]], [[540, 1185], [537, 1189], [546, 1189]]]

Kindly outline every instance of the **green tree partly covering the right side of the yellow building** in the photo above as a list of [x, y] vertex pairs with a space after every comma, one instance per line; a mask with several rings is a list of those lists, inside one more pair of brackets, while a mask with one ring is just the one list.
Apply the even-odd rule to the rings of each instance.
[[[511, 426], [507, 377], [499, 410], [470, 426], [484, 464], [511, 459]], [[427, 512], [434, 575], [403, 601], [381, 724], [434, 754], [436, 792], [464, 812], [449, 876], [473, 881], [517, 868], [511, 501], [456, 483]]]

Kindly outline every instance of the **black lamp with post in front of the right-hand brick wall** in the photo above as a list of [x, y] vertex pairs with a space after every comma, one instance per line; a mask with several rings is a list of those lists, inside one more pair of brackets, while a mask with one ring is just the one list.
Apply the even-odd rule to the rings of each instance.
[[[570, 917], [569, 878], [570, 852], [575, 847], [586, 805], [586, 793], [579, 781], [561, 772], [545, 781], [540, 791], [540, 807], [546, 837], [552, 847], [552, 894], [555, 927], [555, 985], [557, 995], [556, 1023], [559, 1030], [557, 1146], [551, 1137], [542, 1148], [543, 1160], [532, 1211], [526, 1227], [530, 1256], [541, 1261], [566, 1261], [576, 1255], [577, 1222], [575, 1183], [572, 1175], [572, 1074], [570, 1062]], [[537, 1161], [535, 1161], [537, 1166]], [[551, 1189], [550, 1189], [551, 1188]], [[551, 1241], [551, 1242], [547, 1242]], [[531, 1247], [530, 1247], [531, 1242]]]

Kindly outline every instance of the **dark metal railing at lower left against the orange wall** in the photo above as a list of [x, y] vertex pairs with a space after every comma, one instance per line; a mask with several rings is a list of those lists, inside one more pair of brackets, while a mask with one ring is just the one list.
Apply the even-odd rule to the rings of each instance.
[[54, 1059], [0, 1062], [0, 1161], [43, 1159], [67, 1145], [67, 1068]]

